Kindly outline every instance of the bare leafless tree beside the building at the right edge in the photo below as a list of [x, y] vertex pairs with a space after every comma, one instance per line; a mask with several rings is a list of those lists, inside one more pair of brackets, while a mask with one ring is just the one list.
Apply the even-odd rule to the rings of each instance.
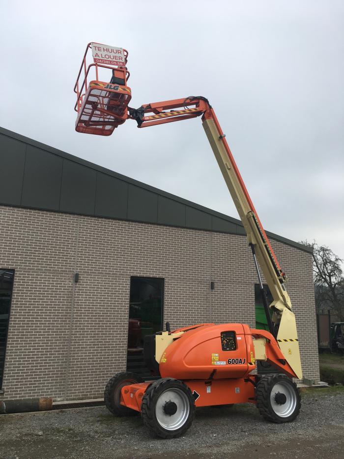
[[314, 241], [301, 244], [313, 248], [313, 273], [316, 307], [329, 307], [340, 321], [344, 321], [344, 277], [343, 260], [326, 245]]

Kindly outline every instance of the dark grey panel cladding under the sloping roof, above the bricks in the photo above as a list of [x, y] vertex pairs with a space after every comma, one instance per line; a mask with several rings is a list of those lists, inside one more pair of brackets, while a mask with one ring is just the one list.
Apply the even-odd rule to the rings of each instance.
[[[0, 204], [245, 234], [236, 218], [1, 127]], [[312, 252], [276, 234], [267, 235]]]

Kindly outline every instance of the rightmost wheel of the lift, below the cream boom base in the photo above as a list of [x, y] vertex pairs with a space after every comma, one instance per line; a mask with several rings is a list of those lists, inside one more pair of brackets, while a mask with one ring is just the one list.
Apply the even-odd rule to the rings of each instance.
[[283, 424], [300, 412], [301, 398], [296, 384], [285, 374], [265, 374], [256, 387], [259, 413], [267, 421]]

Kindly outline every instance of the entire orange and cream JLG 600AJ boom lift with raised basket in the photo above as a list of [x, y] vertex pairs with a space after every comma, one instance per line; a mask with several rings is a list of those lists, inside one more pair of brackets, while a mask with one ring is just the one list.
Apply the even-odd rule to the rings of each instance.
[[[92, 50], [93, 62], [86, 59]], [[201, 117], [213, 153], [244, 225], [258, 275], [269, 331], [248, 325], [198, 324], [146, 337], [144, 358], [153, 376], [117, 373], [105, 388], [105, 402], [116, 416], [141, 412], [143, 423], [163, 438], [182, 435], [192, 423], [197, 406], [255, 403], [260, 414], [276, 423], [290, 422], [300, 410], [300, 397], [292, 378], [302, 378], [295, 316], [285, 288], [286, 274], [259, 221], [257, 212], [235, 164], [215, 112], [205, 97], [183, 97], [128, 106], [128, 52], [89, 43], [74, 91], [78, 132], [110, 135], [126, 120], [139, 128]], [[108, 77], [99, 77], [100, 71]], [[83, 76], [82, 76], [83, 73]], [[90, 80], [90, 74], [95, 79]], [[90, 80], [88, 82], [88, 80]], [[260, 267], [271, 291], [268, 305]], [[271, 311], [271, 314], [270, 314]], [[258, 375], [257, 361], [280, 373]]]

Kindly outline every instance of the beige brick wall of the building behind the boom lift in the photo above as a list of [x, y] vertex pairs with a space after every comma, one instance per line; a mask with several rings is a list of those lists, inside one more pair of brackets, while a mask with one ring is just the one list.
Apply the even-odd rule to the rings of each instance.
[[[132, 275], [165, 279], [172, 327], [255, 325], [245, 236], [4, 206], [0, 223], [0, 268], [15, 270], [1, 398], [101, 397], [126, 367]], [[312, 257], [272, 245], [290, 278], [304, 375], [318, 379]]]

